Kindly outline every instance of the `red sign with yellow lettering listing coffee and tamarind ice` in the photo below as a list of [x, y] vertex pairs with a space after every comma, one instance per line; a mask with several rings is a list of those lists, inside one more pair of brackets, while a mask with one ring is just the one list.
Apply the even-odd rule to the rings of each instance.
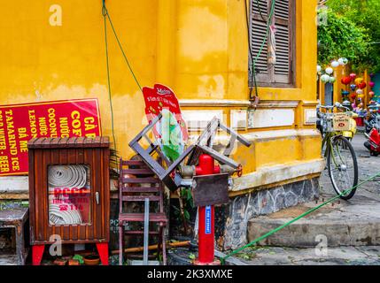
[[27, 141], [101, 134], [96, 98], [0, 106], [0, 176], [27, 174]]

